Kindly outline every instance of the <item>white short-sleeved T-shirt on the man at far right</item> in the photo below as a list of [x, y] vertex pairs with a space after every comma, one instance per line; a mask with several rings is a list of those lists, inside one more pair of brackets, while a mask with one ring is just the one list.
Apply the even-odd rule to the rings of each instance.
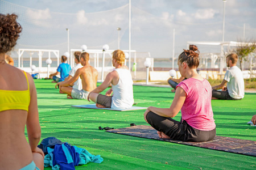
[[224, 80], [228, 82], [226, 87], [230, 97], [234, 99], [242, 99], [243, 96], [245, 96], [243, 73], [237, 66], [233, 66], [226, 71]]

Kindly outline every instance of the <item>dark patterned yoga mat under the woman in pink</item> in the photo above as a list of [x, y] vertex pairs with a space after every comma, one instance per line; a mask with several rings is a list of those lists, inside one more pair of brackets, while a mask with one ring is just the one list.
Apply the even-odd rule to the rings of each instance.
[[151, 126], [144, 126], [144, 125], [131, 126], [129, 128], [112, 129], [112, 130], [106, 130], [106, 131], [110, 133], [129, 135], [133, 137], [155, 139], [159, 141], [179, 143], [182, 145], [190, 145], [190, 146], [196, 146], [196, 147], [202, 147], [202, 148], [209, 148], [212, 150], [219, 150], [219, 151], [225, 151], [225, 152], [232, 152], [236, 154], [256, 156], [256, 141], [216, 136], [213, 139], [213, 141], [208, 141], [208, 142], [182, 142], [182, 141], [175, 141], [172, 139], [159, 138], [154, 128], [152, 128]]

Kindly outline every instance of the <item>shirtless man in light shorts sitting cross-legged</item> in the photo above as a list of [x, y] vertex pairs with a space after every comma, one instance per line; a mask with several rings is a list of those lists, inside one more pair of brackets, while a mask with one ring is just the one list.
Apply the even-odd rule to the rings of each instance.
[[[89, 54], [84, 52], [80, 54], [80, 62], [82, 64], [81, 69], [77, 69], [75, 75], [68, 81], [59, 82], [56, 84], [55, 88], [59, 86], [60, 93], [64, 92], [68, 94], [68, 97], [72, 99], [86, 99], [89, 92], [96, 88], [96, 83], [98, 79], [98, 71], [89, 64]], [[82, 80], [82, 90], [72, 88], [73, 83], [76, 82], [79, 77]]]

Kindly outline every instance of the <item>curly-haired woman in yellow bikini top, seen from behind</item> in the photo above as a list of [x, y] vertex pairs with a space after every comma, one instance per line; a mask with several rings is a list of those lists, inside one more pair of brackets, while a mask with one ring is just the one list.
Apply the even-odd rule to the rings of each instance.
[[34, 81], [5, 61], [22, 31], [17, 18], [0, 14], [0, 169], [43, 169], [44, 153], [37, 147], [41, 129]]

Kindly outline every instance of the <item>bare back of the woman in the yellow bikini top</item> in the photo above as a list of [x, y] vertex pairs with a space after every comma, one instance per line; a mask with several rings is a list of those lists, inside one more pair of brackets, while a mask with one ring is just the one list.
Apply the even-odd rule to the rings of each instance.
[[[28, 77], [30, 92], [34, 87], [32, 81], [32, 78]], [[24, 72], [7, 63], [0, 63], [0, 85], [1, 90], [24, 91], [28, 89]], [[31, 148], [24, 135], [27, 117], [28, 112], [23, 110], [0, 112], [0, 169], [3, 167], [19, 169], [32, 162]]]

